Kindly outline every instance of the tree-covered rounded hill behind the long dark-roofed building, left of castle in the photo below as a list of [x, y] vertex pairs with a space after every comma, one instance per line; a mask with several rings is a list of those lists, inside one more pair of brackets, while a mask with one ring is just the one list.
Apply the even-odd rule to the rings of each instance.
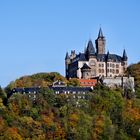
[[76, 78], [72, 78], [69, 81], [59, 74], [58, 72], [50, 73], [37, 73], [28, 76], [22, 76], [15, 81], [12, 81], [6, 90], [11, 90], [13, 88], [28, 88], [28, 87], [48, 87], [53, 84], [54, 81], [60, 80], [64, 81], [68, 86], [79, 86], [80, 83]]

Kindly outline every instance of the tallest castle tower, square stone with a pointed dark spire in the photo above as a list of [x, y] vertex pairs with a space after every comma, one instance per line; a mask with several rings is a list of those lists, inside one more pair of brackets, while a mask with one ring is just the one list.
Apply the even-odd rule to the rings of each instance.
[[102, 29], [99, 29], [98, 37], [95, 40], [97, 54], [105, 54], [105, 37], [103, 36]]

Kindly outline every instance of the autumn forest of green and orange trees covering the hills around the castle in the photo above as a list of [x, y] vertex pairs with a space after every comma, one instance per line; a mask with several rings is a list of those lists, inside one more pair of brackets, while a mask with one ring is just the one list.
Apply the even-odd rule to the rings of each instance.
[[[79, 86], [59, 73], [23, 76], [0, 88], [1, 140], [138, 140], [140, 139], [140, 63], [128, 67], [135, 78], [135, 96], [122, 88], [98, 84], [84, 99], [56, 95], [47, 88], [55, 80]], [[7, 98], [15, 87], [42, 87], [36, 100], [25, 94]], [[46, 88], [43, 88], [46, 87]], [[131, 94], [131, 91], [129, 91]]]

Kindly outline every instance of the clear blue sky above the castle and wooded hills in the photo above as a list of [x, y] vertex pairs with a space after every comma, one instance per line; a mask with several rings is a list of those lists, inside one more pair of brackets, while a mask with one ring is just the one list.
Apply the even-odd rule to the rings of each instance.
[[23, 75], [65, 73], [66, 51], [84, 50], [106, 37], [106, 51], [122, 55], [129, 64], [140, 61], [139, 0], [1, 0], [0, 85]]

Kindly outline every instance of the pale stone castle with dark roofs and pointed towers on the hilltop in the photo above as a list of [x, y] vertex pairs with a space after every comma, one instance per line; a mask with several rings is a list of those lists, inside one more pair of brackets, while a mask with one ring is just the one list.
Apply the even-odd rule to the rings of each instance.
[[75, 50], [69, 55], [66, 53], [65, 69], [66, 77], [78, 79], [93, 79], [95, 77], [123, 76], [127, 69], [127, 54], [123, 51], [122, 56], [105, 52], [106, 39], [102, 29], [99, 29], [95, 46], [89, 40], [84, 53], [76, 54]]

